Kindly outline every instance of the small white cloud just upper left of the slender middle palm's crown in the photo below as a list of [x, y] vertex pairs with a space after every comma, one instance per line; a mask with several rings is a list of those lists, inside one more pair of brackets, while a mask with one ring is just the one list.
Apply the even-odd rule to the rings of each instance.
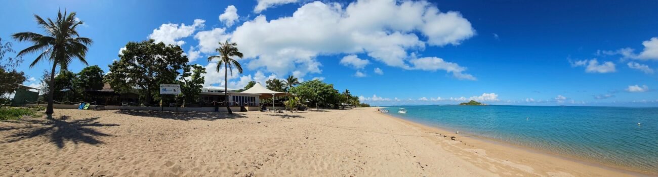
[[194, 39], [199, 41], [199, 51], [203, 53], [215, 53], [219, 47], [219, 42], [224, 42], [230, 38], [226, 34], [226, 28], [213, 28], [213, 30], [197, 32]]

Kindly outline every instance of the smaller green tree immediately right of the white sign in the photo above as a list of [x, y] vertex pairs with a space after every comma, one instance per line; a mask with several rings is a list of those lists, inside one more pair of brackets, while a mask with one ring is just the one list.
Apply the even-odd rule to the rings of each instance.
[[203, 88], [205, 82], [203, 77], [205, 73], [205, 68], [196, 64], [190, 64], [183, 68], [183, 74], [180, 76], [182, 82], [180, 95], [183, 97], [182, 107], [185, 107], [186, 101], [199, 101], [199, 93], [201, 93], [201, 88]]

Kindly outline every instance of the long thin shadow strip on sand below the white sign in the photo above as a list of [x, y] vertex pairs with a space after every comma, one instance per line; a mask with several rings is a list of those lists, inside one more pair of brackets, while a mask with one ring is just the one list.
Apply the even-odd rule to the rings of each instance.
[[116, 111], [118, 114], [128, 114], [132, 116], [148, 116], [155, 118], [166, 118], [173, 120], [218, 120], [225, 118], [245, 118], [244, 114], [218, 113], [218, 112], [171, 112], [171, 111], [146, 111], [122, 109]]

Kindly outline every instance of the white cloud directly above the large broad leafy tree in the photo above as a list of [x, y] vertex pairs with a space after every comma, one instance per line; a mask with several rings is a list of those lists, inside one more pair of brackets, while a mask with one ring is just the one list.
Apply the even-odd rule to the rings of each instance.
[[163, 42], [165, 44], [172, 45], [183, 45], [185, 41], [180, 39], [187, 38], [191, 36], [195, 30], [203, 28], [205, 25], [205, 20], [196, 19], [194, 24], [191, 26], [186, 26], [185, 24], [162, 24], [160, 28], [153, 30], [153, 33], [149, 35], [149, 39], [155, 40], [155, 42]]

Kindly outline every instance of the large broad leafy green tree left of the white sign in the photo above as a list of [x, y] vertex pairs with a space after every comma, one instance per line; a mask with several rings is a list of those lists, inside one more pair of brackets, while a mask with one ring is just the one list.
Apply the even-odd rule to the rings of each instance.
[[162, 100], [160, 84], [178, 83], [178, 70], [188, 63], [188, 57], [178, 45], [155, 43], [153, 39], [128, 42], [119, 58], [109, 65], [105, 81], [120, 93], [138, 88], [145, 105], [151, 105], [154, 99]]

